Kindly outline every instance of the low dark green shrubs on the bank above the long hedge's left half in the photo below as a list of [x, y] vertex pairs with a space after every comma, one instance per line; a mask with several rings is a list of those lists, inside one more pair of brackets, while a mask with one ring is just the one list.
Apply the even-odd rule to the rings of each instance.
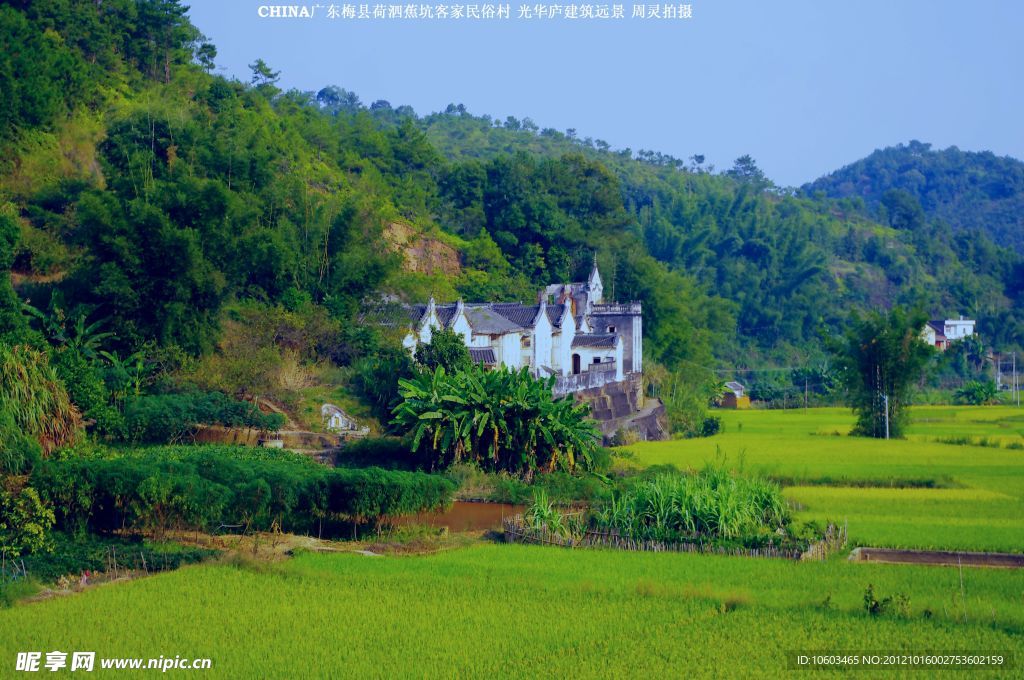
[[255, 427], [275, 431], [285, 424], [281, 414], [263, 414], [254, 405], [221, 392], [146, 394], [125, 400], [124, 437], [135, 443], [177, 443], [197, 425]]

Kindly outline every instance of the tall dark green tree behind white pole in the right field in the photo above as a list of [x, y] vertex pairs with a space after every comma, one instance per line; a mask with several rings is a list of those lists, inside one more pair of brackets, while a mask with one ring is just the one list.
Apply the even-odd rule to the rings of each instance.
[[855, 315], [835, 351], [849, 403], [857, 413], [852, 434], [901, 437], [913, 384], [935, 350], [921, 337], [928, 316], [893, 307]]

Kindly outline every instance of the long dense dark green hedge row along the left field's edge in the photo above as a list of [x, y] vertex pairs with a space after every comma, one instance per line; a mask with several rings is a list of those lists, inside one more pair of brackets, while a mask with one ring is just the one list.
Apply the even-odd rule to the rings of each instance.
[[44, 461], [32, 484], [66, 530], [171, 528], [311, 533], [325, 519], [380, 521], [444, 507], [456, 485], [437, 475], [231, 460], [197, 450], [178, 460], [123, 457]]

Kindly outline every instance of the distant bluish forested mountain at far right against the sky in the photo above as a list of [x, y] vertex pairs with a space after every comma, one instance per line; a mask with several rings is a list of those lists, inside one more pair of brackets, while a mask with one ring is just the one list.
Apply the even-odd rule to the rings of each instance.
[[[991, 152], [932, 148], [911, 141], [873, 152], [802, 189], [806, 196], [861, 199], [879, 221], [899, 219], [912, 198], [929, 221], [983, 231], [1024, 252], [1024, 162]], [[907, 196], [909, 195], [909, 196]]]

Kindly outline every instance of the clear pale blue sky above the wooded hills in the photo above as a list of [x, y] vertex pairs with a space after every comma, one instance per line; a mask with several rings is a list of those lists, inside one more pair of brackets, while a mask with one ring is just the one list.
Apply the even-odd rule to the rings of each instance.
[[750, 154], [783, 186], [911, 139], [1024, 159], [1019, 0], [690, 0], [675, 20], [624, 3], [626, 19], [584, 22], [520, 19], [518, 2], [501, 22], [368, 22], [278, 1], [319, 6], [261, 18], [267, 0], [185, 0], [218, 73], [248, 81], [259, 57], [285, 89], [464, 103], [718, 170]]

